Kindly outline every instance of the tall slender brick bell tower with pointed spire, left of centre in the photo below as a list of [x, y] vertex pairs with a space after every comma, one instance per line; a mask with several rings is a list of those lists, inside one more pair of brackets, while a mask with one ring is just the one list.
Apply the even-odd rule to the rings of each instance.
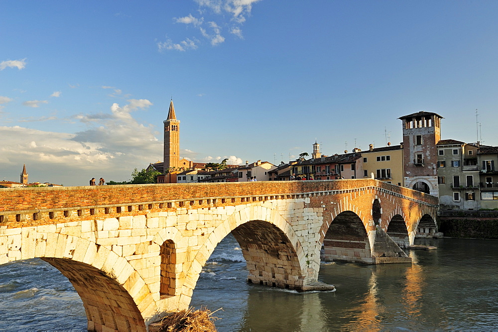
[[168, 117], [164, 120], [164, 173], [180, 166], [180, 121], [176, 119], [173, 100], [169, 104]]

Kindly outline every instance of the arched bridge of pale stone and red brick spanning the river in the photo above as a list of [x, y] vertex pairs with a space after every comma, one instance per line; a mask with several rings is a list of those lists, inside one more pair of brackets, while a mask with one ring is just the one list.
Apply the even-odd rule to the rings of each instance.
[[[410, 262], [437, 198], [373, 179], [0, 190], [0, 264], [40, 257], [83, 300], [91, 331], [146, 331], [189, 306], [229, 233], [248, 282], [311, 290], [322, 258]], [[0, 267], [1, 271], [1, 267]], [[319, 287], [319, 286], [318, 286]]]

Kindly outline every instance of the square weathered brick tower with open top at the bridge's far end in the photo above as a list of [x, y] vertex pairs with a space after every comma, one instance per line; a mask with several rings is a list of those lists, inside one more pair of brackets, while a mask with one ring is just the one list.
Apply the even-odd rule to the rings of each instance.
[[437, 149], [441, 140], [441, 119], [420, 111], [401, 116], [403, 121], [404, 187], [438, 196]]

